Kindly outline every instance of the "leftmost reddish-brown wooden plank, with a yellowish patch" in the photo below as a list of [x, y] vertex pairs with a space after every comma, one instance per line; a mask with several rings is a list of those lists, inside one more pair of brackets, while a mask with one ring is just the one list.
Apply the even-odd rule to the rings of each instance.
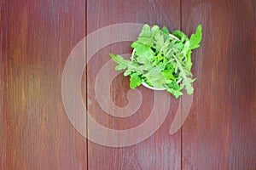
[[65, 61], [85, 36], [85, 1], [5, 3], [1, 169], [86, 169], [86, 139], [68, 121], [61, 99]]

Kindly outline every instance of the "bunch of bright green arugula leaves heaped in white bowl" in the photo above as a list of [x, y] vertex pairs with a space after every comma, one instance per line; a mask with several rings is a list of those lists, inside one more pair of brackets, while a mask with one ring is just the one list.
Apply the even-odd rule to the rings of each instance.
[[189, 38], [183, 31], [170, 34], [165, 26], [160, 30], [159, 26], [150, 29], [145, 24], [137, 41], [131, 43], [131, 48], [134, 48], [131, 59], [124, 59], [119, 54], [110, 56], [119, 64], [115, 69], [125, 70], [124, 76], [131, 77], [130, 88], [146, 82], [154, 88], [166, 88], [178, 98], [183, 95], [183, 88], [186, 88], [187, 94], [194, 92], [191, 53], [192, 49], [200, 47], [200, 42], [201, 25]]

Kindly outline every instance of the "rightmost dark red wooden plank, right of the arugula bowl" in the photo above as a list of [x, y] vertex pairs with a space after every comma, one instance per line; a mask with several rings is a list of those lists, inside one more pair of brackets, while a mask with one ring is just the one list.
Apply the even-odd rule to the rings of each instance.
[[182, 128], [183, 169], [255, 169], [255, 1], [182, 1], [182, 28], [203, 40]]

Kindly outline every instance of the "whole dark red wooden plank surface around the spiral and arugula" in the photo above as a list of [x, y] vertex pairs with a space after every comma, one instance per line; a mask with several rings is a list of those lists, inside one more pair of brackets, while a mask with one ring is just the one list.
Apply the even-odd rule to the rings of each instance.
[[[255, 8], [253, 0], [1, 1], [0, 169], [256, 169]], [[156, 133], [112, 148], [85, 139], [68, 120], [61, 76], [79, 41], [119, 23], [158, 24], [187, 34], [201, 24], [203, 39], [193, 53], [195, 94], [182, 129], [169, 134], [179, 103], [171, 98]], [[143, 104], [133, 116], [108, 116], [97, 104], [98, 71], [108, 53], [131, 53], [130, 44], [102, 48], [81, 82], [90, 115], [108, 128], [136, 127], [152, 109], [154, 93], [143, 87], [137, 88]], [[115, 105], [128, 104], [128, 83], [127, 77], [114, 79]]]

